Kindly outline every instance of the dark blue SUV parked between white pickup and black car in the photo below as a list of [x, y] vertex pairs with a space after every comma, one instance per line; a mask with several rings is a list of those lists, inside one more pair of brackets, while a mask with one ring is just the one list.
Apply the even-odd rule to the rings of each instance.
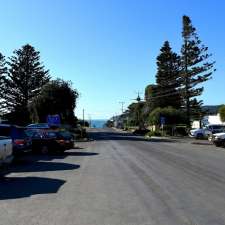
[[25, 128], [16, 125], [0, 124], [0, 136], [11, 137], [13, 154], [31, 152], [32, 142], [25, 133]]

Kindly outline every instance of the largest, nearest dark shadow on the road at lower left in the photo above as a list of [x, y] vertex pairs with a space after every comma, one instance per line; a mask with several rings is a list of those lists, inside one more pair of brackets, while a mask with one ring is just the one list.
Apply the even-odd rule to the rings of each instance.
[[44, 177], [7, 177], [0, 181], [0, 200], [57, 193], [64, 180]]

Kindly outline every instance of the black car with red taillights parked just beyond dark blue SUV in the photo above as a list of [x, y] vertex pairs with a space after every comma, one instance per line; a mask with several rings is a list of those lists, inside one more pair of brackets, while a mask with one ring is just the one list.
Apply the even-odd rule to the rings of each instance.
[[42, 154], [62, 153], [72, 148], [72, 140], [61, 131], [28, 129], [27, 135], [32, 139], [32, 150]]

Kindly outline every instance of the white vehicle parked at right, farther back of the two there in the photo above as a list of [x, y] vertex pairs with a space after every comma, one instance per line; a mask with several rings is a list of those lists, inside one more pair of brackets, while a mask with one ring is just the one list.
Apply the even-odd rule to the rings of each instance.
[[212, 134], [225, 132], [225, 125], [210, 124], [202, 129], [193, 129], [190, 131], [190, 136], [196, 139], [209, 138]]

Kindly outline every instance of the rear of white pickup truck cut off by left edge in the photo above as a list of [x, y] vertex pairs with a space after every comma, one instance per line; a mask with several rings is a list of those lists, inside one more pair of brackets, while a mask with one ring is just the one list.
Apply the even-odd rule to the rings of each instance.
[[[0, 167], [8, 165], [13, 160], [13, 146], [10, 137], [0, 136]], [[0, 169], [1, 170], [1, 169]]]

